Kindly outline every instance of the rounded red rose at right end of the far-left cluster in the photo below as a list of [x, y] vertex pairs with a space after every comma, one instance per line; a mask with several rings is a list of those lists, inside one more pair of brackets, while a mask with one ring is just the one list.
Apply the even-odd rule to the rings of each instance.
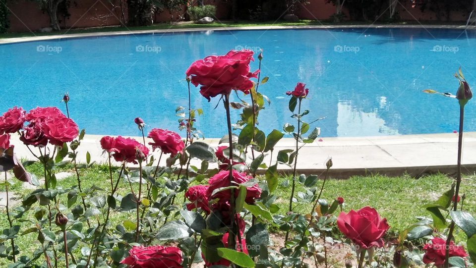
[[79, 135], [78, 125], [64, 116], [46, 118], [41, 128], [46, 138], [53, 145], [63, 146], [65, 142], [71, 142]]

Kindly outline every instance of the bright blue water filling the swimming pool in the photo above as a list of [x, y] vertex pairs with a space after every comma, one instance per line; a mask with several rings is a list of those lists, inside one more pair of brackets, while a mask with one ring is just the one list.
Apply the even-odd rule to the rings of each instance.
[[[187, 106], [187, 67], [230, 49], [264, 50], [260, 92], [271, 106], [260, 114], [266, 133], [293, 122], [288, 96], [307, 84], [308, 120], [323, 137], [452, 132], [455, 100], [422, 90], [456, 93], [462, 66], [476, 85], [476, 32], [443, 29], [319, 29], [206, 31], [66, 39], [0, 46], [0, 111], [59, 106], [69, 92], [71, 117], [88, 134], [135, 135], [133, 119], [176, 130], [175, 108]], [[258, 67], [257, 61], [252, 69]], [[197, 127], [206, 137], [225, 134], [225, 111], [192, 88], [202, 107]], [[234, 97], [235, 100], [237, 99]], [[247, 99], [248, 97], [244, 97]], [[234, 120], [238, 111], [232, 111]], [[476, 131], [476, 99], [467, 105], [465, 130]], [[181, 133], [183, 136], [184, 133]]]

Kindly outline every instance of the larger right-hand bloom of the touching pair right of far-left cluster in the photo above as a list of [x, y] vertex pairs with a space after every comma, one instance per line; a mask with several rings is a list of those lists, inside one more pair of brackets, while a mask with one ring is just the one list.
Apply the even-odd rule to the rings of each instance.
[[118, 162], [126, 161], [129, 163], [137, 163], [137, 150], [142, 152], [144, 158], [147, 158], [147, 155], [149, 154], [149, 149], [142, 143], [131, 138], [122, 138], [121, 136], [114, 140], [114, 148], [116, 151], [114, 152], [113, 157]]

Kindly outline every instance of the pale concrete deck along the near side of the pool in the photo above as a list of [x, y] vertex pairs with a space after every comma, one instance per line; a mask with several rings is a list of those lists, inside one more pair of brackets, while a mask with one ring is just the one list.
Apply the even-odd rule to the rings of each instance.
[[[78, 149], [78, 161], [85, 162], [86, 152], [89, 152], [91, 161], [106, 163], [107, 155], [103, 154], [99, 143], [101, 138], [100, 135], [85, 135]], [[142, 137], [134, 138], [142, 141]], [[217, 147], [219, 140], [205, 139], [204, 142]], [[19, 141], [18, 135], [12, 136], [11, 143], [15, 145], [18, 158], [35, 160], [27, 147]], [[275, 147], [273, 161], [276, 161], [279, 150], [294, 149], [295, 146], [294, 139], [282, 139]], [[388, 176], [408, 173], [420, 176], [442, 172], [451, 175], [456, 172], [457, 147], [456, 133], [322, 138], [322, 141], [307, 144], [300, 150], [297, 169], [298, 173], [322, 175], [326, 161], [332, 157], [330, 176], [335, 178], [375, 173]], [[158, 153], [155, 155], [158, 158]], [[266, 156], [265, 162], [270, 162], [270, 154]], [[462, 163], [464, 173], [476, 171], [476, 132], [464, 134]], [[165, 165], [165, 158], [161, 164]], [[199, 161], [192, 161], [192, 164], [199, 166]], [[216, 164], [210, 164], [210, 168], [213, 167], [216, 167]], [[291, 173], [286, 165], [278, 165], [278, 170], [285, 174]]]

